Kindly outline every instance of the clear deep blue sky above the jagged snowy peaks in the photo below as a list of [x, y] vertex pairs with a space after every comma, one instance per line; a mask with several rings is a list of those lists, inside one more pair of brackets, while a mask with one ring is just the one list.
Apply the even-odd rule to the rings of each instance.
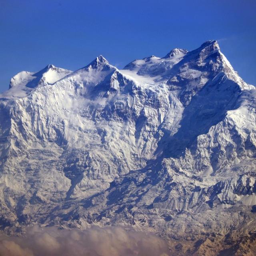
[[76, 70], [99, 54], [122, 68], [210, 39], [256, 85], [255, 0], [0, 0], [0, 33], [0, 92], [22, 70]]

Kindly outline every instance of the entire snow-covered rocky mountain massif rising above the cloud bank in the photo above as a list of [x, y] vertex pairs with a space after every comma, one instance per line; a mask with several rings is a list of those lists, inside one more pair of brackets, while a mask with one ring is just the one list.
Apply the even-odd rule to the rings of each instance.
[[251, 255], [256, 90], [216, 41], [123, 70], [99, 56], [20, 72], [0, 100], [4, 232], [121, 225], [175, 255]]

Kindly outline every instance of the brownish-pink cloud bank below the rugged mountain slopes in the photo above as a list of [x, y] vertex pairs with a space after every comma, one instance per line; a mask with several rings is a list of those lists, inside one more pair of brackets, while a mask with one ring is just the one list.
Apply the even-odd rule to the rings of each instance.
[[120, 227], [59, 230], [34, 226], [0, 237], [0, 256], [167, 256], [165, 240]]

